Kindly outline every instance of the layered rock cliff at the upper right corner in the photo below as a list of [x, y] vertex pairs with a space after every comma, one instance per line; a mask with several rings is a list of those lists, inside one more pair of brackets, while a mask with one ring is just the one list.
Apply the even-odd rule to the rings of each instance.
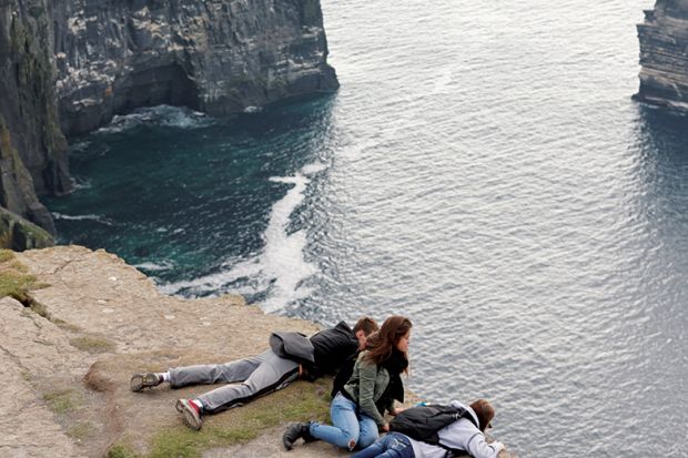
[[688, 109], [688, 0], [657, 0], [638, 24], [640, 89], [637, 100]]

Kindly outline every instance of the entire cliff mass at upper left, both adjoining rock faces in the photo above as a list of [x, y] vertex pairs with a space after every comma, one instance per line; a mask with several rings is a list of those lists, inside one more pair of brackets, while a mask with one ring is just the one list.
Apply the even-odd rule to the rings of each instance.
[[54, 233], [36, 195], [71, 191], [64, 135], [334, 91], [326, 58], [320, 0], [0, 0], [0, 205]]

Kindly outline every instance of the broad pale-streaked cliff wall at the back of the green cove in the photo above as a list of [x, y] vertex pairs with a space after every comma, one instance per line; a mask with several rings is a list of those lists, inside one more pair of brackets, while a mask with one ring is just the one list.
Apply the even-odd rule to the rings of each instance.
[[337, 88], [318, 0], [58, 2], [62, 130], [168, 103], [211, 114]]

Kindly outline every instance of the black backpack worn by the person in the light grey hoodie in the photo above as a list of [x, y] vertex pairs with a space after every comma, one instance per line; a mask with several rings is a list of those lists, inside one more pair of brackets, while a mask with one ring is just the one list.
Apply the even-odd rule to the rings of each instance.
[[447, 447], [439, 444], [439, 431], [445, 426], [454, 421], [467, 418], [476, 427], [476, 420], [465, 408], [441, 405], [416, 406], [402, 410], [389, 421], [389, 430], [404, 434], [412, 439], [438, 446], [447, 450], [449, 457], [469, 456], [466, 450]]

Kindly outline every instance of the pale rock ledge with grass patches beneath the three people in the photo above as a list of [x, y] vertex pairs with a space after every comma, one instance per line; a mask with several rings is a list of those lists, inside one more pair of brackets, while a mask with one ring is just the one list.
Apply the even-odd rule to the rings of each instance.
[[2, 457], [348, 456], [323, 442], [282, 449], [289, 421], [328, 417], [328, 379], [208, 416], [201, 431], [183, 425], [174, 401], [208, 387], [129, 390], [136, 370], [246, 357], [266, 348], [270, 332], [312, 334], [313, 323], [265, 315], [239, 296], [164, 296], [119, 257], [79, 246], [0, 252], [0, 293], [14, 296], [0, 299]]

